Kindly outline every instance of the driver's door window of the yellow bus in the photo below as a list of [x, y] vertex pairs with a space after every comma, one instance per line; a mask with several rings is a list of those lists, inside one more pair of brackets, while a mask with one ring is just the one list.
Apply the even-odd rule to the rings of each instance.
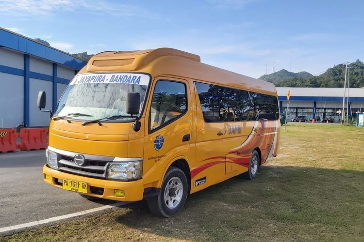
[[186, 87], [183, 83], [158, 81], [150, 108], [150, 130], [177, 119], [186, 108]]

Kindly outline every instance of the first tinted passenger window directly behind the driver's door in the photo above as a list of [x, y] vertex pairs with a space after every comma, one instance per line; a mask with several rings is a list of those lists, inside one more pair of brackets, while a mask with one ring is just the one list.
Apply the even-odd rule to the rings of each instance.
[[216, 122], [220, 120], [220, 109], [218, 103], [218, 86], [195, 82], [199, 92], [199, 101], [206, 122]]

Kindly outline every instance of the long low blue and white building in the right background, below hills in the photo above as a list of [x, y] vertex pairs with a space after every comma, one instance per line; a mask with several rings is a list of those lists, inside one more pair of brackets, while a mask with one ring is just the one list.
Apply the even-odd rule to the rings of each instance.
[[[287, 109], [287, 93], [289, 99], [287, 121], [297, 116], [322, 121], [332, 118], [341, 121], [344, 88], [277, 88], [281, 112]], [[349, 102], [345, 98], [345, 113], [348, 106], [348, 118], [356, 119], [356, 112], [364, 112], [364, 88], [350, 88]]]

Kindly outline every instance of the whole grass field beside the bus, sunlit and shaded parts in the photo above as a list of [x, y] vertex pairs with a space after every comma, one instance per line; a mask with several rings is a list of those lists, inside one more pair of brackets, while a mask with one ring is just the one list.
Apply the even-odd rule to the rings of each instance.
[[364, 129], [289, 124], [254, 181], [235, 177], [157, 218], [116, 208], [0, 241], [363, 241]]

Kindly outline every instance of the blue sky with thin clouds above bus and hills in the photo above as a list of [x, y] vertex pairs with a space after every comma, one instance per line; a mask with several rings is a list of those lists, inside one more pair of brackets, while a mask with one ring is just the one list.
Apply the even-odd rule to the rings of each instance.
[[259, 77], [364, 61], [362, 0], [0, 0], [0, 26], [61, 50], [172, 47]]

